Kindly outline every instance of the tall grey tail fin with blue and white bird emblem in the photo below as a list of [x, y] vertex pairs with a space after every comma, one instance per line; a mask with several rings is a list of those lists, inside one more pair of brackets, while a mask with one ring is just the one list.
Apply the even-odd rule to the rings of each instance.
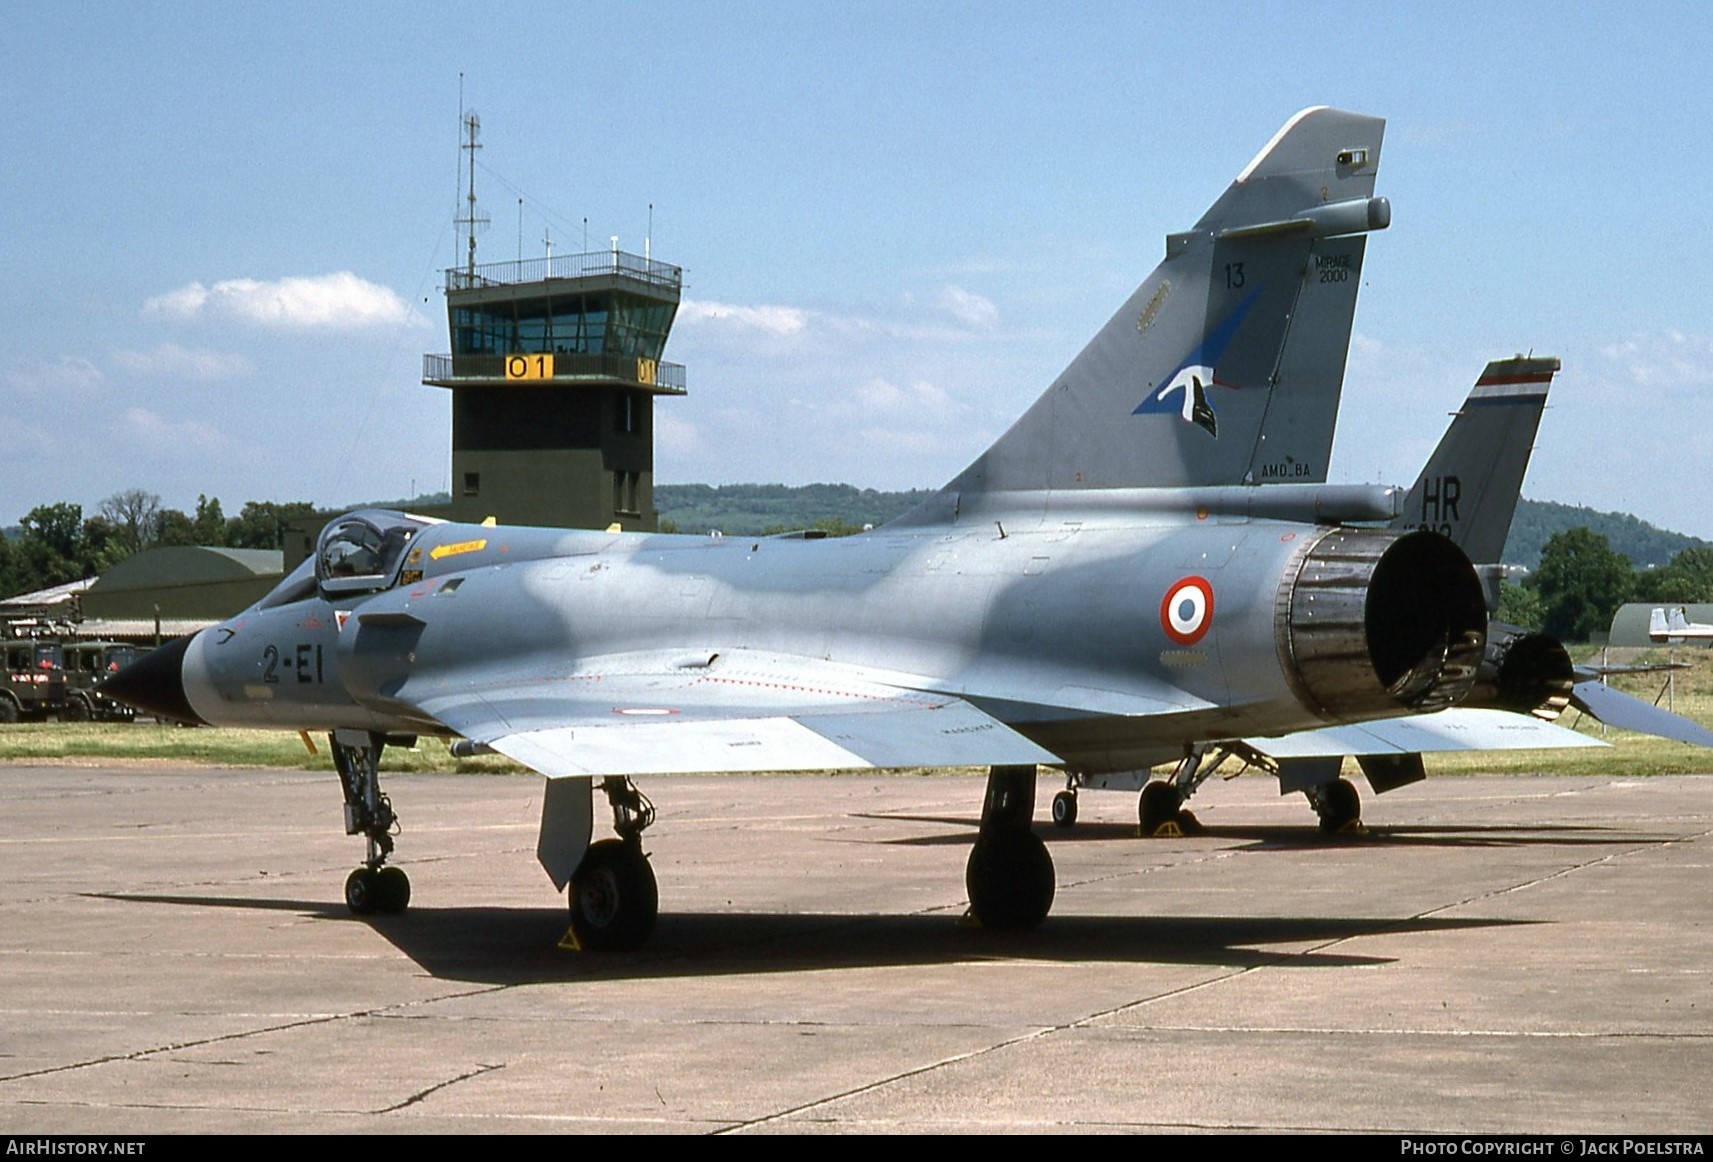
[[1384, 127], [1286, 122], [947, 492], [1326, 480]]

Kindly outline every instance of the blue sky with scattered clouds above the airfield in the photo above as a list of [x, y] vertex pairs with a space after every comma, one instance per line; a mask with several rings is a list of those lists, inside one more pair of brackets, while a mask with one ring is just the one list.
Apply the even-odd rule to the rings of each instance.
[[[3, 3], [0, 523], [442, 488], [478, 261], [685, 267], [660, 482], [934, 487], [1297, 110], [1388, 118], [1333, 454], [1559, 355], [1526, 494], [1713, 536], [1703, 5]], [[522, 216], [519, 230], [519, 197]]]

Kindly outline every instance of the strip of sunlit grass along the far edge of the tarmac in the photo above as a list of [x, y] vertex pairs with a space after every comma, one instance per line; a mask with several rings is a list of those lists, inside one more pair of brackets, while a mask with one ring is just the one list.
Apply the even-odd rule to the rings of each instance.
[[[1624, 651], [1612, 662], [1665, 662], [1665, 650]], [[1598, 662], [1598, 651], [1579, 651], [1585, 662]], [[1677, 650], [1679, 662], [1691, 668], [1674, 677], [1677, 713], [1713, 723], [1713, 651]], [[1665, 674], [1614, 675], [1612, 686], [1644, 701], [1665, 704]], [[1713, 751], [1668, 742], [1651, 735], [1612, 730], [1569, 711], [1559, 720], [1583, 734], [1612, 742], [1612, 749], [1578, 751], [1470, 751], [1429, 754], [1430, 775], [1698, 775], [1713, 771]], [[313, 737], [315, 752], [305, 749], [298, 735], [284, 730], [185, 728], [158, 723], [72, 723], [43, 722], [0, 725], [0, 763], [161, 763], [188, 766], [272, 766], [325, 771], [332, 768], [327, 739]], [[423, 773], [521, 773], [522, 766], [483, 756], [454, 759], [439, 739], [421, 739], [415, 749], [387, 749], [387, 771]], [[1353, 763], [1346, 763], [1355, 768]]]

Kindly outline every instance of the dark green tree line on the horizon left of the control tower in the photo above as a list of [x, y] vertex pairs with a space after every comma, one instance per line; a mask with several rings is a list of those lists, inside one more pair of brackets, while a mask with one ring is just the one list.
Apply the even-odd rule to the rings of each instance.
[[313, 512], [307, 500], [248, 500], [228, 518], [219, 497], [209, 495], [197, 497], [195, 512], [180, 512], [142, 488], [115, 492], [91, 516], [81, 504], [39, 504], [14, 536], [0, 536], [0, 596], [94, 578], [146, 548], [279, 548], [283, 526]]

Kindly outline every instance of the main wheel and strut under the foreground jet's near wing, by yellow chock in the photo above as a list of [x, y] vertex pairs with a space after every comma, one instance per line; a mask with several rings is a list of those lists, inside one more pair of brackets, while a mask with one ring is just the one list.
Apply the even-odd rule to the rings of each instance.
[[570, 877], [570, 941], [586, 951], [641, 948], [660, 917], [660, 886], [642, 850], [654, 804], [629, 778], [601, 780], [617, 840], [591, 843]]

